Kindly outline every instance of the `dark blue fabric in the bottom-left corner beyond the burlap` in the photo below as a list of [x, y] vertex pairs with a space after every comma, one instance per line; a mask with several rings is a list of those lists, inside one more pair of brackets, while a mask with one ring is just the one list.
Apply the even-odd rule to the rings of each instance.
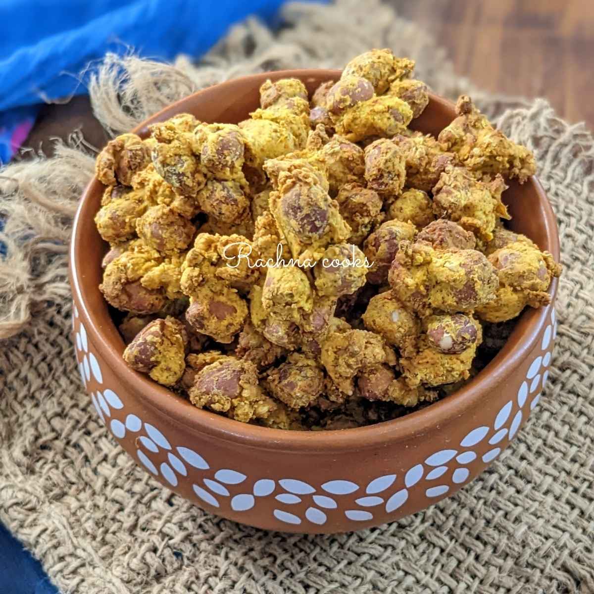
[[31, 557], [10, 532], [0, 524], [0, 592], [2, 594], [58, 594], [43, 573], [39, 561]]

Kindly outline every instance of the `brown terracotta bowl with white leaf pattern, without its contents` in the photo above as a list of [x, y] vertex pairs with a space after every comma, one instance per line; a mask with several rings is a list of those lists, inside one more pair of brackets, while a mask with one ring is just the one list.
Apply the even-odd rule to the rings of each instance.
[[[298, 77], [313, 91], [336, 70], [268, 72], [195, 93], [134, 130], [176, 113], [239, 122], [267, 78]], [[454, 118], [431, 96], [414, 126], [437, 134]], [[288, 432], [198, 410], [122, 361], [124, 342], [97, 286], [107, 245], [93, 223], [102, 185], [84, 192], [72, 233], [76, 356], [87, 393], [115, 439], [154, 478], [205, 510], [287, 532], [331, 533], [391, 522], [472, 481], [517, 435], [538, 403], [557, 331], [553, 304], [527, 309], [505, 347], [462, 390], [424, 410], [343, 431]], [[511, 228], [559, 258], [557, 225], [536, 180], [504, 194]], [[555, 299], [557, 281], [551, 286]]]

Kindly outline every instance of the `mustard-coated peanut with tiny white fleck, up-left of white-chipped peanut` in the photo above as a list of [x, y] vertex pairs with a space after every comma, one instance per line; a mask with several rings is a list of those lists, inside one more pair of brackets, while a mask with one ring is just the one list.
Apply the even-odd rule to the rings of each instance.
[[388, 345], [396, 346], [401, 353], [408, 352], [416, 344], [421, 331], [419, 320], [391, 291], [372, 297], [362, 318], [367, 330], [383, 336]]

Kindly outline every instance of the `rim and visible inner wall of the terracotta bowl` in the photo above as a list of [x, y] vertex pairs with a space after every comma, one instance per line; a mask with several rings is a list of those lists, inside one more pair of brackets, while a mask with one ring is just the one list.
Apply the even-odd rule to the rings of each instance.
[[[276, 80], [286, 77], [301, 78], [312, 93], [320, 83], [330, 79], [337, 80], [340, 71], [279, 71], [238, 78], [185, 97], [156, 113], [134, 131], [145, 136], [149, 124], [164, 121], [183, 112], [192, 113], [206, 122], [237, 123], [258, 108], [258, 89], [267, 78]], [[413, 121], [412, 127], [437, 135], [454, 116], [454, 106], [451, 102], [431, 95], [428, 107]], [[481, 394], [491, 390], [522, 362], [544, 323], [544, 311], [527, 308], [504, 348], [472, 381], [439, 402], [402, 418], [346, 431], [315, 434], [242, 424], [206, 410], [196, 409], [186, 400], [125, 365], [121, 357], [124, 342], [98, 288], [102, 280], [100, 263], [108, 248], [99, 236], [93, 221], [99, 210], [102, 192], [103, 185], [93, 179], [84, 192], [72, 233], [71, 282], [78, 296], [79, 309], [87, 329], [106, 362], [112, 366], [129, 390], [140, 391], [146, 404], [156, 407], [164, 415], [213, 437], [241, 441], [248, 446], [256, 445], [263, 440], [267, 443], [274, 441], [279, 447], [293, 450], [302, 448], [304, 451], [352, 448], [354, 443], [359, 447], [371, 447], [386, 440], [402, 440], [410, 435], [422, 433], [436, 423], [454, 418], [469, 406], [477, 405]], [[523, 185], [511, 182], [510, 188], [503, 194], [503, 200], [513, 217], [510, 228], [524, 233], [541, 249], [552, 252], [558, 260], [559, 244], [555, 216], [536, 178], [530, 178]], [[550, 289], [553, 296], [556, 287], [555, 279]]]

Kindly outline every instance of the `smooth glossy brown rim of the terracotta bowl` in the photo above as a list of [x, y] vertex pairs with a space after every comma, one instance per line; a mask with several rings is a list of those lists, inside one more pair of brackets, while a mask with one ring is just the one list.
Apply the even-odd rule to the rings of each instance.
[[[261, 72], [258, 74], [247, 75], [245, 77], [234, 78], [218, 85], [207, 87], [184, 97], [183, 99], [172, 103], [166, 108], [150, 116], [145, 121], [135, 127], [132, 132], [144, 132], [150, 122], [169, 118], [173, 113], [184, 112], [185, 106], [189, 100], [196, 96], [208, 94], [215, 87], [235, 86], [249, 81], [263, 82], [267, 78], [307, 78], [315, 75], [318, 77], [324, 73], [324, 77], [338, 78], [340, 70], [334, 69], [292, 69], [274, 72]], [[315, 74], [312, 74], [315, 73]], [[448, 110], [454, 109], [454, 104], [443, 97], [430, 93], [433, 102], [441, 104]], [[539, 204], [544, 211], [543, 225], [545, 228], [546, 239], [549, 244], [549, 251], [555, 257], [560, 258], [559, 237], [555, 214], [551, 204], [546, 197], [542, 185], [535, 176], [529, 178], [526, 183], [530, 183], [535, 188], [539, 198]], [[536, 340], [546, 323], [548, 307], [539, 309], [526, 309], [520, 316], [516, 327], [512, 331], [509, 339], [503, 349], [497, 353], [489, 364], [479, 372], [466, 386], [460, 388], [438, 400], [432, 405], [421, 410], [409, 413], [391, 421], [384, 421], [375, 425], [368, 425], [350, 429], [333, 429], [329, 431], [286, 431], [284, 429], [273, 429], [258, 425], [250, 425], [229, 419], [222, 415], [201, 410], [194, 407], [188, 400], [184, 400], [177, 394], [160, 386], [154, 381], [130, 369], [122, 359], [121, 353], [114, 348], [103, 331], [102, 320], [97, 319], [96, 312], [91, 314], [87, 308], [87, 299], [89, 290], [92, 287], [86, 286], [81, 279], [81, 258], [85, 254], [81, 253], [80, 236], [81, 229], [84, 228], [83, 222], [92, 220], [95, 213], [89, 213], [89, 195], [96, 191], [96, 187], [102, 186], [96, 178], [93, 178], [85, 188], [78, 204], [72, 225], [72, 236], [69, 250], [69, 277], [72, 290], [78, 301], [78, 312], [83, 318], [87, 333], [90, 334], [92, 342], [97, 346], [100, 356], [106, 361], [106, 364], [112, 369], [113, 374], [118, 380], [125, 384], [128, 389], [135, 394], [142, 393], [143, 405], [150, 406], [160, 415], [168, 417], [172, 424], [181, 423], [190, 431], [199, 432], [209, 437], [232, 441], [244, 445], [248, 448], [270, 449], [274, 448], [281, 451], [290, 451], [292, 453], [307, 454], [325, 454], [328, 452], [337, 453], [339, 451], [363, 450], [374, 448], [380, 445], [387, 445], [403, 440], [409, 440], [415, 436], [420, 436], [428, 432], [435, 426], [443, 426], [449, 422], [455, 421], [467, 409], [479, 406], [481, 399], [486, 393], [494, 390], [498, 383], [509, 377], [514, 369], [522, 364], [522, 361], [530, 353]], [[88, 255], [86, 255], [88, 261]], [[100, 265], [100, 260], [97, 261]], [[84, 274], [82, 275], [84, 277]], [[87, 283], [89, 285], [90, 283]], [[554, 304], [557, 293], [558, 280], [553, 279], [549, 293], [551, 303]], [[97, 287], [95, 287], [96, 290]], [[107, 311], [107, 310], [106, 310]], [[109, 313], [107, 313], [109, 317]], [[113, 325], [113, 322], [110, 320]], [[123, 342], [122, 342], [123, 345]], [[121, 349], [123, 350], [123, 349]]]

